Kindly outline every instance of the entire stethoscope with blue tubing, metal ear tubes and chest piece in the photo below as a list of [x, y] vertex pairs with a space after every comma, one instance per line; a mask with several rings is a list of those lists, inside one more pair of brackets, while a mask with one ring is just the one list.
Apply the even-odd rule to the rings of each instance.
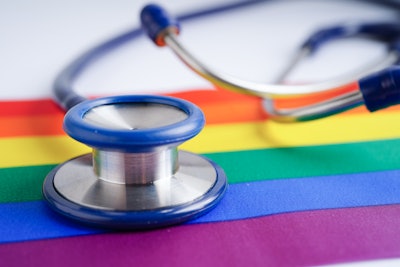
[[[179, 20], [257, 2], [261, 1], [230, 4], [181, 16]], [[157, 45], [169, 46], [200, 76], [218, 87], [263, 98], [266, 112], [276, 121], [326, 117], [361, 104], [375, 111], [400, 103], [400, 69], [390, 67], [400, 55], [400, 46], [396, 43], [400, 25], [396, 23], [344, 25], [317, 32], [301, 46], [291, 66], [331, 39], [355, 35], [388, 42], [387, 57], [372, 68], [340, 79], [290, 86], [243, 81], [211, 70], [178, 40], [178, 19], [157, 5], [146, 6], [141, 12], [141, 21]], [[146, 229], [181, 223], [211, 210], [227, 188], [226, 175], [215, 162], [178, 149], [204, 126], [204, 115], [194, 104], [155, 95], [87, 100], [73, 90], [76, 78], [97, 57], [142, 33], [141, 29], [133, 30], [95, 47], [61, 72], [54, 84], [57, 102], [67, 110], [64, 130], [91, 147], [92, 153], [52, 170], [44, 181], [43, 195], [55, 211], [85, 224]], [[287, 68], [277, 82], [290, 70]], [[366, 74], [369, 75], [359, 79]], [[331, 99], [298, 108], [275, 105], [277, 99], [332, 93], [349, 84], [354, 85], [350, 91]]]

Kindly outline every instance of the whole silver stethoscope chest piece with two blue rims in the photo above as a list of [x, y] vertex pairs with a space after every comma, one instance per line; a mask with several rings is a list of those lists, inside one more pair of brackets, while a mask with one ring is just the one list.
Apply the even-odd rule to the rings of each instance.
[[227, 187], [218, 165], [177, 148], [203, 125], [199, 108], [171, 97], [82, 102], [68, 111], [64, 129], [93, 152], [51, 171], [43, 195], [57, 212], [100, 227], [146, 229], [196, 218]]

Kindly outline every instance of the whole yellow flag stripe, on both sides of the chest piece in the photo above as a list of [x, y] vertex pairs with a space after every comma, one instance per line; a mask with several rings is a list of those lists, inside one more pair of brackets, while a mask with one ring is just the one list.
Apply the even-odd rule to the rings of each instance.
[[[337, 144], [400, 137], [400, 112], [355, 114], [279, 124], [252, 122], [208, 125], [181, 148], [212, 153], [260, 148]], [[0, 167], [55, 164], [90, 149], [67, 136], [0, 139]]]

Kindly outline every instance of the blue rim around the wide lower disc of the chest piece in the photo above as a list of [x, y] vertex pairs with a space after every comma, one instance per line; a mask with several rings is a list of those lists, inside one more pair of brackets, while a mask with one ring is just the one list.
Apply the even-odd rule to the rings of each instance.
[[215, 168], [217, 175], [215, 184], [201, 197], [177, 206], [144, 211], [112, 211], [79, 205], [64, 198], [54, 187], [54, 176], [63, 166], [62, 164], [47, 175], [43, 183], [43, 195], [53, 210], [89, 226], [131, 230], [180, 224], [212, 210], [222, 199], [227, 189], [227, 178], [222, 168], [213, 161], [206, 160]]

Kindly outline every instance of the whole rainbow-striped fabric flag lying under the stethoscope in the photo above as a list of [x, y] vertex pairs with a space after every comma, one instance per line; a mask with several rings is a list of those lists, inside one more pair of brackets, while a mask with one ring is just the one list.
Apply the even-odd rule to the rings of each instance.
[[298, 124], [221, 90], [173, 96], [207, 124], [181, 149], [226, 172], [210, 213], [183, 225], [112, 232], [60, 217], [47, 173], [88, 147], [62, 131], [50, 99], [0, 102], [1, 266], [288, 266], [400, 257], [400, 109], [358, 108]]

